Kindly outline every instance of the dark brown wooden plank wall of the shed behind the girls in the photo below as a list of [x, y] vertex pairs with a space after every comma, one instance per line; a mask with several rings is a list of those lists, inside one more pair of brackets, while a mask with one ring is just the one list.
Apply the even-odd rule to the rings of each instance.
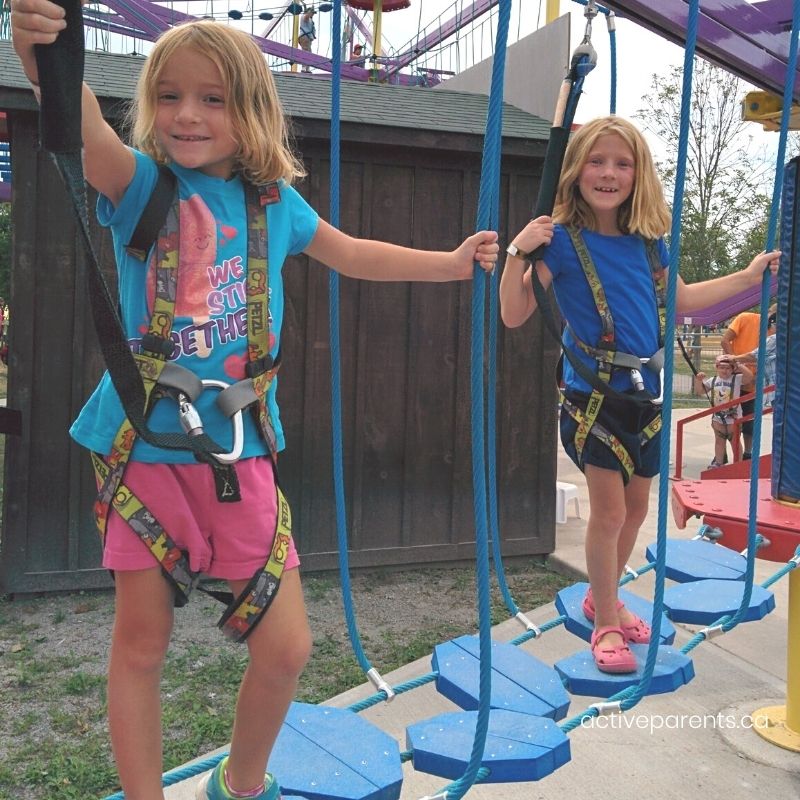
[[[0, 588], [106, 585], [91, 521], [87, 455], [67, 429], [102, 371], [66, 193], [38, 153], [36, 116], [9, 113], [14, 186], [8, 404], [23, 435], [6, 444]], [[306, 123], [298, 186], [328, 217], [326, 126]], [[341, 227], [451, 249], [473, 230], [480, 142], [458, 134], [343, 129]], [[530, 216], [540, 156], [521, 143], [503, 162], [501, 240]], [[537, 151], [538, 152], [538, 151]], [[109, 239], [98, 251], [113, 285]], [[279, 401], [281, 480], [306, 569], [336, 566], [330, 444], [328, 273], [306, 257], [284, 268], [287, 307]], [[430, 564], [474, 554], [469, 282], [341, 280], [344, 464], [354, 566]], [[540, 323], [498, 348], [498, 485], [503, 550], [554, 549], [557, 347]]]

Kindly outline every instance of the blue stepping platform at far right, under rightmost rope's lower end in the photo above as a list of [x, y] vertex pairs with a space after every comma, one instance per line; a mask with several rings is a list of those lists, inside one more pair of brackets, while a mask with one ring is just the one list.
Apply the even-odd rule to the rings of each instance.
[[[664, 607], [671, 620], [690, 625], [711, 625], [739, 609], [744, 595], [741, 581], [695, 581], [670, 586], [664, 592]], [[775, 608], [775, 595], [762, 586], [753, 586], [750, 605], [743, 622], [763, 619]]]

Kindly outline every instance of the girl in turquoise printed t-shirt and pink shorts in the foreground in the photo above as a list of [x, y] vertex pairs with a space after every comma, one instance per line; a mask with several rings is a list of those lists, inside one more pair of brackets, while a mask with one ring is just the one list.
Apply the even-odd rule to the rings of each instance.
[[[56, 39], [65, 27], [64, 11], [49, 0], [12, 0], [11, 11], [14, 48], [36, 91], [34, 45]], [[156, 280], [158, 259], [139, 261], [125, 245], [156, 185], [159, 165], [166, 165], [177, 179], [178, 213], [172, 223], [168, 216], [167, 225], [179, 226], [179, 231], [168, 229], [155, 249], [165, 250], [177, 263], [171, 268], [178, 273], [177, 296], [167, 298], [174, 303], [168, 338], [177, 352], [175, 363], [203, 379], [233, 383], [248, 376], [256, 387], [256, 378], [264, 377], [266, 364], [272, 364], [250, 357], [243, 329], [251, 289], [247, 283], [245, 295], [242, 287], [256, 262], [268, 264], [253, 269], [252, 275], [268, 277], [268, 290], [257, 286], [256, 291], [268, 306], [259, 319], [269, 323], [268, 353], [274, 357], [280, 346], [281, 269], [287, 256], [306, 253], [343, 275], [383, 281], [468, 280], [476, 260], [487, 271], [497, 260], [492, 232], [470, 236], [452, 252], [429, 252], [354, 239], [319, 219], [291, 187], [302, 168], [289, 148], [280, 99], [263, 54], [247, 34], [220, 23], [191, 22], [156, 42], [144, 63], [133, 109], [135, 148], [123, 144], [103, 119], [85, 85], [82, 113], [85, 172], [100, 194], [98, 217], [113, 234], [123, 324], [144, 354], [150, 348], [143, 333], [155, 318], [154, 302], [164, 300], [166, 271]], [[264, 190], [258, 192], [261, 208], [246, 200], [250, 189], [258, 187]], [[251, 227], [256, 231], [252, 240]], [[180, 242], [179, 249], [175, 242]], [[250, 243], [256, 245], [255, 255]], [[246, 373], [245, 365], [261, 371]], [[211, 395], [200, 394], [197, 411], [206, 431], [224, 443], [231, 438], [230, 423]], [[258, 408], [266, 409], [263, 416], [268, 419], [261, 422], [260, 415], [260, 427], [250, 415], [244, 419], [243, 453], [235, 464], [238, 502], [220, 501], [212, 470], [196, 463], [191, 453], [160, 450], [143, 441], [133, 446], [124, 476], [124, 486], [177, 547], [188, 551], [191, 569], [227, 580], [234, 597], [265, 564], [276, 537], [278, 498], [267, 430], [274, 433], [275, 450], [283, 447], [283, 435], [274, 381]], [[149, 422], [155, 431], [181, 432], [172, 398], [155, 403]], [[124, 424], [124, 411], [106, 374], [71, 432], [110, 467], [115, 435]], [[131, 527], [114, 506], [103, 553], [116, 585], [109, 728], [125, 796], [163, 800], [159, 690], [173, 625], [173, 592], [153, 553]], [[280, 796], [277, 780], [264, 773], [311, 648], [298, 563], [290, 545], [280, 591], [246, 640], [249, 663], [230, 755], [201, 780], [198, 800]]]

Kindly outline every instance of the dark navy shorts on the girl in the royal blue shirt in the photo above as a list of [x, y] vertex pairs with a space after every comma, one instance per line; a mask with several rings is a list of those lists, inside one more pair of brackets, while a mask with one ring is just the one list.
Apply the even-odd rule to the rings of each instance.
[[[586, 411], [586, 405], [589, 402], [588, 394], [567, 391], [565, 396], [574, 406], [580, 408], [581, 411]], [[596, 421], [609, 433], [616, 436], [630, 454], [633, 461], [633, 474], [642, 478], [652, 478], [658, 475], [659, 472], [661, 433], [657, 433], [644, 444], [640, 441], [639, 436], [642, 429], [658, 416], [660, 411], [660, 406], [640, 406], [634, 403], [627, 403], [624, 400], [605, 397], [600, 406], [600, 413], [597, 416]], [[559, 429], [564, 450], [581, 472], [584, 471], [586, 464], [591, 464], [603, 469], [616, 470], [622, 475], [622, 480], [625, 483], [628, 482], [622, 462], [608, 445], [591, 433], [586, 438], [582, 458], [578, 459], [575, 449], [575, 433], [578, 430], [578, 423], [563, 407], [561, 409]]]

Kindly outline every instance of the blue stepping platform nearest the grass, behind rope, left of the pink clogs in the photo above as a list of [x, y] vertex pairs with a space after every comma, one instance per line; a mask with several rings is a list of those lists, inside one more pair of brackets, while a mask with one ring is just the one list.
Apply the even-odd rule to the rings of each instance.
[[[433, 651], [436, 688], [465, 711], [480, 698], [480, 640], [461, 636]], [[563, 719], [569, 695], [556, 671], [535, 656], [507, 642], [492, 642], [492, 708], [520, 711], [536, 717]]]

